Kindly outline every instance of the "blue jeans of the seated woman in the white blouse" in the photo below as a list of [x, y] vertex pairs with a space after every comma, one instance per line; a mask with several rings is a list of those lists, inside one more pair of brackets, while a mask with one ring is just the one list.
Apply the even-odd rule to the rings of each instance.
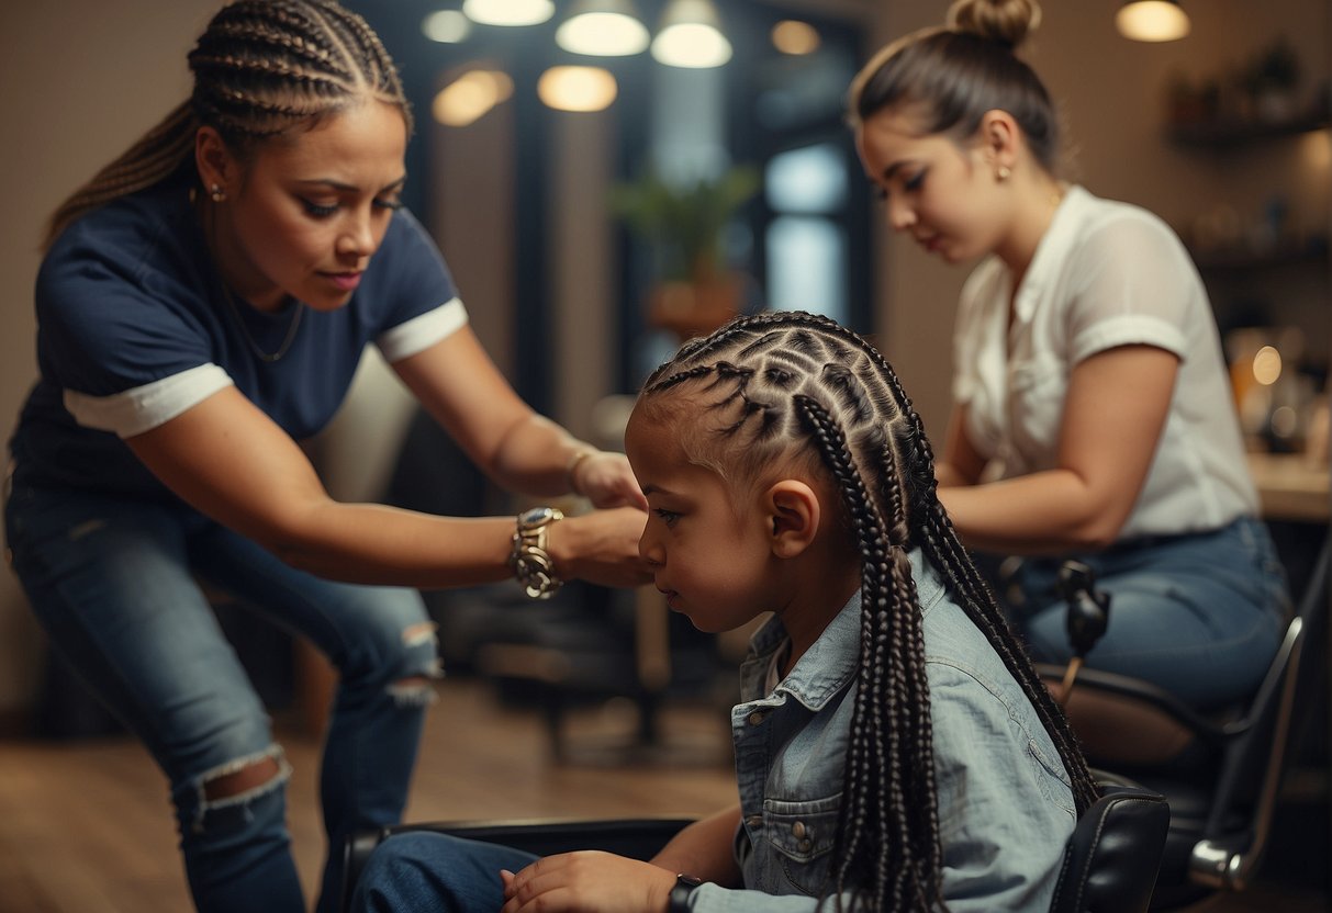
[[[1260, 520], [1078, 559], [1110, 594], [1110, 622], [1087, 653], [1090, 668], [1144, 679], [1197, 709], [1257, 689], [1291, 612], [1285, 572]], [[1038, 661], [1072, 656], [1067, 604], [1055, 590], [1062, 562], [1027, 559], [1016, 580], [1026, 604], [1014, 614]]]

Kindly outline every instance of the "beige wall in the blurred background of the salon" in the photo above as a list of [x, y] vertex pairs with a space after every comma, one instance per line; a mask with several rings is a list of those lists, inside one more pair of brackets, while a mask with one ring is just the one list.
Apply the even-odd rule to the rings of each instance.
[[[783, 0], [797, 7], [803, 0]], [[825, 0], [823, 9], [832, 0]], [[1296, 217], [1327, 222], [1328, 165], [1311, 165], [1293, 144], [1244, 157], [1189, 154], [1160, 134], [1162, 87], [1172, 68], [1216, 72], [1281, 32], [1295, 41], [1311, 75], [1328, 79], [1329, 0], [1207, 0], [1185, 7], [1195, 33], [1185, 41], [1146, 45], [1114, 32], [1119, 0], [1050, 0], [1032, 63], [1062, 104], [1076, 142], [1076, 176], [1092, 192], [1156, 209], [1188, 221], [1225, 200], [1252, 209], [1273, 189], [1297, 204]], [[940, 0], [835, 0], [839, 12], [864, 16], [887, 40], [908, 28], [936, 23]], [[120, 152], [186, 92], [184, 53], [214, 8], [213, 0], [48, 0], [0, 7], [0, 173], [7, 178], [7, 212], [0, 232], [0, 437], [35, 375], [31, 287], [37, 269], [37, 229], [47, 213], [79, 181]], [[570, 122], [557, 132], [561, 154], [551, 168], [571, 185], [606, 180], [609, 162], [587, 144], [613, 129], [607, 120]], [[502, 120], [476, 136], [477, 148], [452, 137], [453, 153], [433, 164], [442, 181], [437, 224], [445, 253], [473, 309], [482, 339], [502, 367], [510, 366], [511, 301], [505, 281], [511, 254], [502, 205], [505, 173], [496, 149], [506, 136]], [[498, 137], [498, 138], [497, 138]], [[1313, 144], [1327, 145], [1327, 133]], [[477, 152], [486, 168], [476, 170]], [[1317, 157], [1317, 150], [1309, 153]], [[473, 169], [473, 170], [469, 170]], [[497, 181], [500, 181], [497, 184]], [[551, 214], [561, 268], [553, 277], [559, 314], [553, 321], [558, 353], [557, 410], [575, 430], [587, 403], [605, 389], [609, 345], [598, 321], [614, 306], [606, 270], [605, 236], [590, 230], [579, 206], [590, 194], [562, 185]], [[481, 221], [478, 221], [481, 220]], [[966, 270], [927, 260], [876, 229], [880, 338], [927, 427], [942, 434], [948, 411], [948, 339], [958, 287]], [[498, 245], [498, 246], [494, 246]], [[1311, 307], [1328, 309], [1325, 283]], [[575, 311], [574, 309], [579, 309]], [[609, 317], [606, 323], [609, 326]], [[1324, 341], [1325, 345], [1325, 341]], [[392, 385], [389, 385], [392, 389]], [[388, 393], [385, 395], [389, 395]], [[373, 411], [373, 410], [372, 410]], [[9, 575], [0, 574], [0, 715], [25, 705], [41, 657], [40, 636]]]

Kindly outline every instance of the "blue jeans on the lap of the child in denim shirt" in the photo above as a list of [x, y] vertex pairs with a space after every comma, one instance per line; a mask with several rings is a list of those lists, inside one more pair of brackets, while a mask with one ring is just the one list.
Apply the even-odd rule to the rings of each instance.
[[503, 906], [500, 869], [535, 862], [531, 853], [409, 830], [370, 854], [352, 894], [356, 913], [496, 913]]

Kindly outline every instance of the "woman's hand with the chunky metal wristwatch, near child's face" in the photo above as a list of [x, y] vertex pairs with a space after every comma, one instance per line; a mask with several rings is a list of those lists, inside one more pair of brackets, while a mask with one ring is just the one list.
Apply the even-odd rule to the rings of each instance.
[[637, 587], [653, 582], [651, 568], [638, 555], [647, 514], [637, 507], [597, 510], [567, 516], [550, 527], [547, 551], [562, 579], [578, 578], [606, 587]]

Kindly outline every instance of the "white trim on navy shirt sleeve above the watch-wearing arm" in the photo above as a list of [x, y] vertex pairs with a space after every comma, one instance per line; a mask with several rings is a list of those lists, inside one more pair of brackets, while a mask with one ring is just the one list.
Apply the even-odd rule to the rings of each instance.
[[83, 427], [132, 438], [165, 425], [233, 383], [226, 371], [208, 363], [109, 397], [65, 390], [64, 401], [65, 409]]

